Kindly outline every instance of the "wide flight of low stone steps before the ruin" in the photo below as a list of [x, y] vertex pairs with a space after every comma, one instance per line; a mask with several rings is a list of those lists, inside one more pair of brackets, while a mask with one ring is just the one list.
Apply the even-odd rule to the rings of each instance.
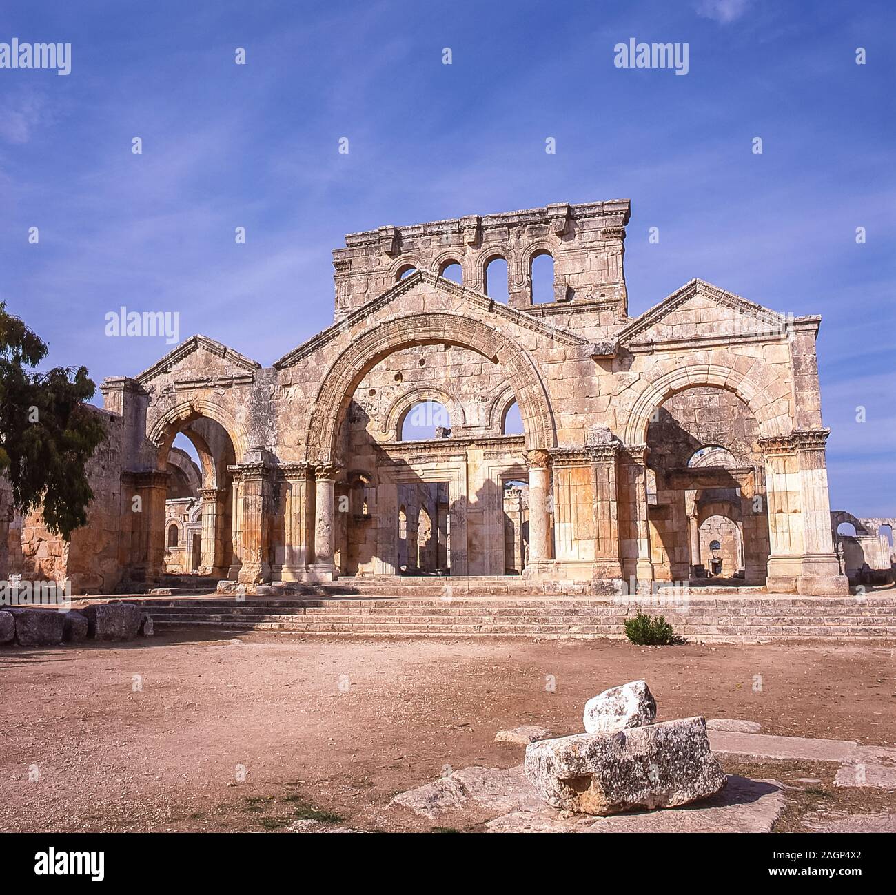
[[[622, 637], [638, 611], [664, 615], [691, 641], [762, 642], [896, 639], [896, 598], [788, 594], [690, 594], [679, 598], [612, 598], [333, 593], [306, 585], [302, 596], [117, 597], [139, 603], [159, 633], [293, 633], [363, 637], [520, 637], [590, 640]], [[104, 598], [108, 599], [108, 598]]]

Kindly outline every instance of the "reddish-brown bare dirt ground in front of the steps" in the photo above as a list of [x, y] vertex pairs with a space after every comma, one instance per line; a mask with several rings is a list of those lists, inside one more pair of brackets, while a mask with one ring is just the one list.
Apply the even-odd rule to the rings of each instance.
[[[763, 733], [892, 745], [894, 658], [830, 643], [192, 633], [4, 649], [0, 830], [284, 830], [296, 818], [429, 830], [386, 804], [445, 769], [518, 764], [521, 747], [495, 744], [495, 731], [579, 732], [590, 696], [636, 678], [658, 720], [749, 719]], [[821, 781], [789, 784], [799, 791], [776, 830], [803, 829], [819, 804], [894, 810], [892, 794], [832, 787], [835, 765], [723, 764]]]

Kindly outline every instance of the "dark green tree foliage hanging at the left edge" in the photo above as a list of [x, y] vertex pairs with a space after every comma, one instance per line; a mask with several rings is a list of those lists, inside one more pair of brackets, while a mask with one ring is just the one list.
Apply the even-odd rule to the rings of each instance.
[[0, 302], [0, 472], [22, 513], [42, 506], [47, 528], [68, 540], [87, 523], [85, 467], [106, 432], [84, 403], [97, 390], [87, 368], [28, 369], [44, 357], [47, 343]]

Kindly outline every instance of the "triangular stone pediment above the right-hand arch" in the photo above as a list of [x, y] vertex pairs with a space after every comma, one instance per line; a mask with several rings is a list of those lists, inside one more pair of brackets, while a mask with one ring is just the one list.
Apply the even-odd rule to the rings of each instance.
[[631, 346], [718, 336], [775, 336], [786, 331], [784, 314], [703, 280], [691, 280], [635, 317], [619, 333], [617, 342]]

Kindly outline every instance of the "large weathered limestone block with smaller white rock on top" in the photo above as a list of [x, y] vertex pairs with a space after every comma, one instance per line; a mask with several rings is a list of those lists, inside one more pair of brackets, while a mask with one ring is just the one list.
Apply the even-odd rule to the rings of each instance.
[[548, 805], [598, 815], [687, 805], [726, 780], [702, 718], [541, 740], [524, 767]]

